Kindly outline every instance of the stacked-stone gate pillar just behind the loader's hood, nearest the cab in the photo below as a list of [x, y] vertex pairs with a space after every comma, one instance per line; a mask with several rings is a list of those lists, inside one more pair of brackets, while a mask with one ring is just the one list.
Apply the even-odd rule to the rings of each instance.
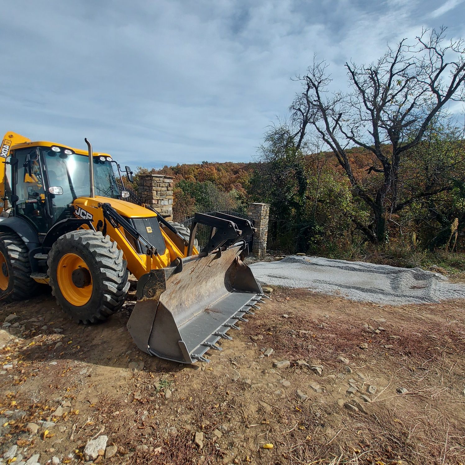
[[173, 178], [165, 174], [140, 174], [139, 198], [163, 218], [173, 219]]

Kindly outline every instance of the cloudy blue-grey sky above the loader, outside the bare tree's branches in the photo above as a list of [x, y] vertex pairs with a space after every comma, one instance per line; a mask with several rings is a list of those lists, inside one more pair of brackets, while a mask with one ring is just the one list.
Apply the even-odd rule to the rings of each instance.
[[[422, 27], [465, 37], [463, 0], [5, 0], [0, 132], [159, 167], [248, 161], [313, 53], [378, 57]], [[1, 137], [1, 135], [0, 135]]]

